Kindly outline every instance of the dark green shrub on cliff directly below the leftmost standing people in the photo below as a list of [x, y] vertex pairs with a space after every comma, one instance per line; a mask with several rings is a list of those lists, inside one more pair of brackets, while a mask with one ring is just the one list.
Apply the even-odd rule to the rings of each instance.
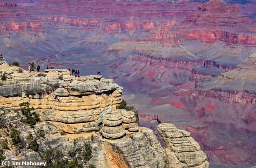
[[39, 114], [31, 112], [31, 111], [34, 111], [34, 108], [29, 108], [29, 103], [28, 102], [20, 103], [20, 111], [26, 117], [26, 119], [21, 117], [20, 121], [25, 123], [25, 124], [29, 124], [31, 128], [34, 128], [34, 125], [38, 121], [40, 121]]

